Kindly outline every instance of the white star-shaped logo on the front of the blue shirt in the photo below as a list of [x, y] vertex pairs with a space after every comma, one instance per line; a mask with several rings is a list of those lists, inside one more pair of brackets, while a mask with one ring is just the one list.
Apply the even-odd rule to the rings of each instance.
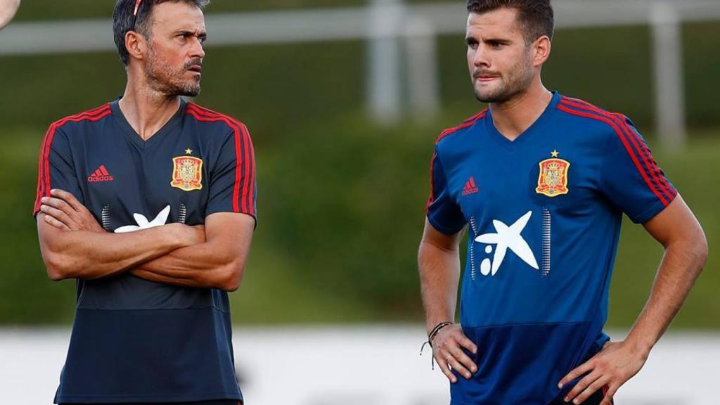
[[538, 262], [535, 259], [532, 249], [530, 249], [530, 246], [528, 246], [528, 243], [520, 234], [528, 224], [532, 215], [533, 212], [530, 210], [510, 226], [505, 225], [502, 221], [493, 220], [492, 225], [495, 226], [497, 233], [485, 233], [475, 238], [476, 242], [482, 244], [498, 245], [495, 247], [495, 256], [492, 257], [492, 275], [495, 275], [500, 268], [500, 264], [503, 264], [503, 259], [505, 259], [505, 253], [508, 249], [523, 259], [523, 262], [526, 262], [530, 267], [539, 270]]

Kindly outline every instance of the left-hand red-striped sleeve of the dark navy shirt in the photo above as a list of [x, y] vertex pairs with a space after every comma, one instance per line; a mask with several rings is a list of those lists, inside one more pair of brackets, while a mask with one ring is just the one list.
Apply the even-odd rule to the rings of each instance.
[[50, 125], [40, 147], [37, 164], [37, 193], [32, 216], [40, 212], [40, 199], [48, 197], [50, 190], [70, 192], [81, 204], [85, 204], [78, 182], [70, 141], [61, 128]]

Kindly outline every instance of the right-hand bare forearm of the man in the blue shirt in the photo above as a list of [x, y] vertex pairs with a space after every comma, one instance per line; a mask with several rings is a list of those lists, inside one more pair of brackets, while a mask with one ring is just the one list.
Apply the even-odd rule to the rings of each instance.
[[[700, 244], [704, 246], [703, 244]], [[649, 353], [680, 311], [705, 264], [706, 250], [693, 241], [679, 241], [665, 249], [652, 292], [627, 341]]]

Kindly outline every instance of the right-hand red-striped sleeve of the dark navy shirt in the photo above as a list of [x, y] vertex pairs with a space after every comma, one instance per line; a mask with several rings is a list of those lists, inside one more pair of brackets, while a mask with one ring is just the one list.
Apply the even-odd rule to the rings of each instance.
[[210, 171], [205, 215], [245, 213], [256, 218], [255, 153], [245, 125], [233, 122]]

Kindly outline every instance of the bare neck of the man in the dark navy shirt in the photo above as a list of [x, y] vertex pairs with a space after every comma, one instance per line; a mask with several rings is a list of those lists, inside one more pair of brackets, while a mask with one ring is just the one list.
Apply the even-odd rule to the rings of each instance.
[[175, 115], [180, 97], [157, 92], [149, 86], [144, 74], [128, 68], [125, 93], [118, 105], [127, 123], [147, 141]]

